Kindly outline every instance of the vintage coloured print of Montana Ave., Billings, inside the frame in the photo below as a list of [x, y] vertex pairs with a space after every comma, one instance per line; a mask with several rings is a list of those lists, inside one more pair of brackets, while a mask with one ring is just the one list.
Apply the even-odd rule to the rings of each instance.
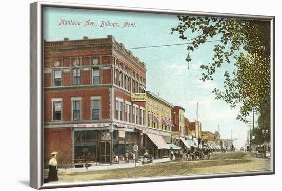
[[43, 8], [44, 183], [268, 172], [271, 23]]

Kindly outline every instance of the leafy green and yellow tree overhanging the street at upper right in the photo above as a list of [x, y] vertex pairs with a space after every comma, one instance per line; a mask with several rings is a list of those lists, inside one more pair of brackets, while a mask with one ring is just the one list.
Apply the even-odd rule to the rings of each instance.
[[[218, 41], [211, 63], [200, 66], [204, 71], [200, 80], [213, 80], [216, 68], [231, 64], [231, 58], [235, 60], [236, 69], [224, 73], [224, 86], [212, 91], [215, 98], [230, 104], [231, 109], [242, 103], [238, 119], [247, 122], [246, 117], [254, 109], [261, 114], [260, 124], [270, 126], [270, 22], [177, 17], [179, 24], [171, 33], [178, 32], [179, 38], [191, 41], [187, 50], [195, 51], [201, 44]], [[196, 37], [189, 37], [189, 33]]]

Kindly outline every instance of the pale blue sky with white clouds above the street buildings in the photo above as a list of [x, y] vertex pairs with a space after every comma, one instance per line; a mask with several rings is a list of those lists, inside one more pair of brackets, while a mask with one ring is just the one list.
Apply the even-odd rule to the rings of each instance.
[[[82, 21], [82, 25], [61, 25], [61, 19], [67, 21]], [[86, 26], [87, 20], [91, 20], [97, 26]], [[118, 22], [120, 27], [99, 27], [101, 21]], [[136, 27], [123, 28], [124, 22], [135, 23]], [[171, 35], [171, 28], [178, 25], [176, 15], [126, 13], [115, 11], [93, 11], [45, 8], [44, 10], [44, 39], [47, 41], [70, 40], [89, 38], [105, 38], [111, 34], [126, 48], [144, 47], [166, 44], [186, 43], [178, 34]], [[196, 37], [197, 34], [188, 34]], [[213, 39], [217, 40], [217, 39]], [[156, 47], [150, 49], [133, 49], [133, 55], [146, 63], [147, 90], [159, 92], [173, 105], [180, 105], [186, 109], [185, 115], [190, 121], [196, 118], [196, 104], [198, 102], [199, 120], [204, 131], [218, 130], [221, 138], [238, 138], [234, 142], [237, 148], [244, 146], [247, 136], [247, 125], [236, 120], [239, 107], [230, 110], [230, 106], [224, 101], [215, 100], [211, 92], [215, 87], [223, 86], [223, 73], [232, 71], [233, 64], [224, 64], [216, 71], [213, 81], [203, 83], [201, 64], [211, 62], [214, 45], [218, 42], [205, 43], [199, 49], [190, 52], [192, 61], [190, 69], [187, 69], [186, 45]]]

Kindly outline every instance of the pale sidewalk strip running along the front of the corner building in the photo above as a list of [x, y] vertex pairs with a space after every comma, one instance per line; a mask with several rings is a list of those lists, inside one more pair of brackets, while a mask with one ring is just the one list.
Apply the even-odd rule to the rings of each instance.
[[[152, 163], [150, 164], [144, 164], [142, 165], [141, 162], [136, 163], [137, 166], [146, 166], [146, 165], [152, 165], [157, 163], [164, 163], [172, 161], [170, 158], [160, 158], [160, 159], [154, 159]], [[108, 169], [118, 169], [118, 168], [134, 168], [135, 162], [132, 163], [126, 163], [126, 164], [98, 164], [97, 166], [90, 166], [88, 169], [85, 167], [80, 168], [68, 168], [68, 169], [58, 169], [59, 172], [88, 172], [88, 171], [99, 171], [99, 170], [108, 170]], [[48, 169], [45, 169], [44, 171], [48, 171]]]

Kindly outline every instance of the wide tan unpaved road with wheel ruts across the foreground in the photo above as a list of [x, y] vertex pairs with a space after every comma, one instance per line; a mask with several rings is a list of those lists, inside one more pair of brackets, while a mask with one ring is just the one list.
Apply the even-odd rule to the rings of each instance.
[[[161, 164], [88, 172], [58, 172], [59, 182], [122, 179], [172, 175], [194, 175], [270, 169], [270, 160], [250, 153], [215, 153], [210, 160], [171, 161]], [[52, 182], [51, 182], [52, 183]]]

